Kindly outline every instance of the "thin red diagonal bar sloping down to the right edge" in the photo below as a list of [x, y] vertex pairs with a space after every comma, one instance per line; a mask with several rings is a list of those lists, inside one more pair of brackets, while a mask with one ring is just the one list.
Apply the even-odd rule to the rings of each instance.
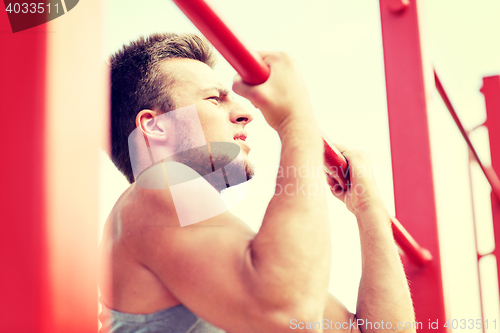
[[477, 154], [477, 151], [474, 148], [474, 145], [470, 141], [469, 134], [465, 130], [464, 126], [462, 125], [460, 118], [458, 118], [457, 112], [453, 108], [453, 105], [451, 104], [450, 99], [448, 98], [448, 95], [446, 94], [446, 91], [444, 90], [443, 85], [441, 84], [441, 81], [439, 80], [439, 77], [437, 76], [436, 71], [434, 71], [434, 81], [436, 82], [437, 91], [441, 95], [441, 98], [443, 99], [444, 104], [448, 108], [448, 111], [450, 111], [451, 117], [455, 121], [455, 124], [457, 124], [457, 127], [460, 130], [460, 133], [462, 133], [462, 136], [465, 139], [465, 142], [467, 142], [467, 145], [469, 146], [469, 149], [471, 150], [472, 155], [476, 159], [477, 163], [481, 167], [481, 170], [483, 170], [483, 173], [486, 176], [486, 179], [490, 183], [492, 192], [495, 194], [497, 199], [500, 200], [500, 179], [498, 179], [498, 176], [495, 173], [495, 170], [493, 170], [493, 168], [485, 166], [483, 164], [483, 162], [481, 162], [481, 159], [479, 159], [479, 155]]

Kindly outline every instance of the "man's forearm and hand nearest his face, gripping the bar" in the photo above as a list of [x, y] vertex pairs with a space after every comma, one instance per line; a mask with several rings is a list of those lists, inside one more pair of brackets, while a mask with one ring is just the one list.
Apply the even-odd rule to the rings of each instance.
[[330, 263], [323, 143], [294, 61], [284, 54], [262, 55], [271, 66], [269, 80], [257, 87], [238, 81], [233, 86], [262, 110], [282, 144], [275, 196], [251, 244], [251, 284], [270, 309], [283, 311], [285, 322], [319, 321]]

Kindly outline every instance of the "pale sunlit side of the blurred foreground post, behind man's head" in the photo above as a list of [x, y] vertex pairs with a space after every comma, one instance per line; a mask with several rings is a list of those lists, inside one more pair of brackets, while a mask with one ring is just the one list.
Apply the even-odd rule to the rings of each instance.
[[[68, 3], [68, 1], [66, 1]], [[46, 186], [50, 332], [96, 332], [99, 149], [108, 135], [109, 75], [101, 1], [48, 23]]]

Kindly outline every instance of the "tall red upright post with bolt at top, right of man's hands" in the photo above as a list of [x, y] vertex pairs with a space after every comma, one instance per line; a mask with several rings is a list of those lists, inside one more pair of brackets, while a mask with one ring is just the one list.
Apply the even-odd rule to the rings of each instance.
[[[420, 332], [445, 332], [445, 295], [427, 123], [418, 1], [380, 0], [396, 215], [433, 260], [406, 265]], [[428, 87], [429, 88], [429, 87]], [[429, 322], [439, 321], [437, 329]]]

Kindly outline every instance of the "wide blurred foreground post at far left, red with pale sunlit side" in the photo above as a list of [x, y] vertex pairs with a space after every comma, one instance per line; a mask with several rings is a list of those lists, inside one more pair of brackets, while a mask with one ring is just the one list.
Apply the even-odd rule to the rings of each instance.
[[97, 142], [108, 137], [108, 76], [88, 21], [99, 4], [73, 14], [11, 33], [0, 12], [2, 332], [98, 326]]

